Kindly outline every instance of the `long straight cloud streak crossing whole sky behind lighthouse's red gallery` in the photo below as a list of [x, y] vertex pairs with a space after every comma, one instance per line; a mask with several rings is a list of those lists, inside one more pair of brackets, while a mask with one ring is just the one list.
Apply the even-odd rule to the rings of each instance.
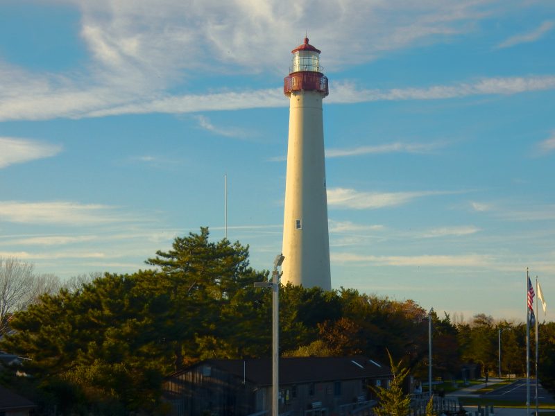
[[[0, 121], [45, 120], [56, 117], [80, 119], [121, 114], [185, 114], [289, 105], [280, 88], [171, 95], [162, 87], [142, 89], [133, 85], [87, 85], [79, 77], [60, 80], [43, 74], [14, 74], [12, 69], [6, 69], [1, 64], [0, 78], [4, 80], [3, 87], [0, 87]], [[40, 80], [25, 84], [19, 78]], [[139, 84], [145, 82], [142, 80]], [[326, 99], [327, 103], [362, 103], [464, 98], [550, 90], [555, 89], [555, 76], [483, 78], [472, 83], [395, 89], [366, 89], [361, 85], [340, 81], [332, 82], [330, 85], [333, 94]], [[204, 128], [210, 128], [211, 124], [206, 119], [199, 121], [204, 123]], [[213, 125], [212, 128], [219, 134], [226, 131], [216, 129]], [[230, 134], [229, 130], [227, 134]], [[404, 146], [404, 151], [418, 151], [414, 147], [418, 145], [413, 145], [412, 148], [410, 145]], [[357, 151], [364, 150], [379, 149], [366, 148]]]

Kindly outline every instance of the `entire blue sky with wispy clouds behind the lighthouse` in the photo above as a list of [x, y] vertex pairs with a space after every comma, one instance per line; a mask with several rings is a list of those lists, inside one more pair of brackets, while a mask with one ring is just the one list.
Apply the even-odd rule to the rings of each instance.
[[271, 268], [305, 33], [330, 78], [332, 286], [523, 320], [528, 267], [555, 302], [552, 0], [3, 0], [0, 256], [146, 268], [223, 238], [227, 175], [228, 237]]

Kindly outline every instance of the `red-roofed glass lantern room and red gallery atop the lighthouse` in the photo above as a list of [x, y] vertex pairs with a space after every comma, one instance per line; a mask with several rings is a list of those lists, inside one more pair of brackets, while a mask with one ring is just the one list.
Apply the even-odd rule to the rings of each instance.
[[327, 76], [323, 74], [320, 66], [320, 51], [305, 42], [291, 51], [293, 61], [289, 68], [289, 76], [284, 79], [283, 93], [291, 96], [293, 91], [317, 91], [323, 96], [330, 94], [327, 87]]

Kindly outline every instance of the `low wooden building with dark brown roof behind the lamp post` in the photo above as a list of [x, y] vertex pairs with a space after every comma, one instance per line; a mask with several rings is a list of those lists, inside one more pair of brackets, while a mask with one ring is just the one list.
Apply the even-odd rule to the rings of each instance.
[[[280, 358], [280, 415], [364, 415], [391, 369], [364, 356]], [[271, 358], [206, 360], [164, 382], [174, 416], [269, 415]]]

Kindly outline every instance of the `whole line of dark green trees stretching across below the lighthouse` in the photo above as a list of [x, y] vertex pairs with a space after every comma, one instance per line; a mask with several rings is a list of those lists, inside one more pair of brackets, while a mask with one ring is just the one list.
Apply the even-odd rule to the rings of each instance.
[[[153, 270], [106, 273], [44, 294], [10, 316], [0, 349], [24, 357], [0, 383], [17, 388], [46, 412], [164, 414], [164, 376], [206, 358], [271, 356], [270, 279], [253, 270], [248, 247], [209, 240], [207, 228], [173, 241], [148, 259]], [[526, 369], [526, 324], [484, 314], [452, 322], [432, 313], [434, 377], [461, 379], [461, 365], [497, 374]], [[280, 288], [282, 356], [364, 354], [388, 363], [388, 352], [427, 380], [428, 313], [412, 300], [353, 289]], [[540, 379], [554, 388], [555, 324], [540, 324]], [[15, 370], [26, 376], [15, 376]]]

